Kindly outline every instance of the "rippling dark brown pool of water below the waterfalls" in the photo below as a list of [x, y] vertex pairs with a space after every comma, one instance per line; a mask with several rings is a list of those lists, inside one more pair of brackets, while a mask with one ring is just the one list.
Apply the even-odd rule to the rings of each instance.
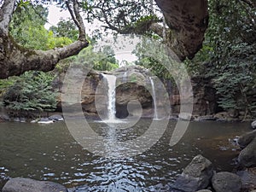
[[[120, 158], [101, 157], [82, 148], [64, 122], [1, 123], [0, 173], [54, 181], [67, 188], [79, 186], [79, 192], [166, 191], [196, 154], [211, 160], [217, 171], [234, 169], [239, 150], [232, 140], [250, 131], [249, 123], [191, 122], [182, 140], [171, 148], [168, 143], [176, 123], [170, 121], [159, 142], [144, 153]], [[90, 120], [98, 134], [114, 135], [120, 141], [142, 135], [150, 124], [150, 119], [141, 119], [109, 135], [108, 125]]]

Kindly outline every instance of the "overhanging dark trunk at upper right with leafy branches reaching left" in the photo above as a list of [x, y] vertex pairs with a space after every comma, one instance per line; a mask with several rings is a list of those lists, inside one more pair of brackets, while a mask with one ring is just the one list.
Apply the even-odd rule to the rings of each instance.
[[[164, 39], [164, 42], [179, 57], [184, 60], [186, 57], [193, 58], [195, 53], [201, 49], [204, 34], [208, 24], [207, 0], [154, 0], [163, 13], [166, 26], [161, 29], [157, 23], [162, 20], [150, 20], [151, 8], [138, 5], [142, 1], [92, 1], [90, 16], [104, 22], [104, 27], [115, 32], [127, 34], [146, 34], [155, 32]], [[242, 0], [241, 0], [242, 1]], [[251, 1], [251, 0], [244, 0]], [[137, 9], [131, 9], [136, 8]], [[100, 10], [99, 12], [97, 10]], [[123, 15], [122, 15], [123, 14]], [[148, 17], [147, 17], [148, 15]], [[138, 18], [140, 18], [138, 20]], [[126, 22], [128, 21], [128, 22]], [[165, 38], [164, 38], [165, 37]]]

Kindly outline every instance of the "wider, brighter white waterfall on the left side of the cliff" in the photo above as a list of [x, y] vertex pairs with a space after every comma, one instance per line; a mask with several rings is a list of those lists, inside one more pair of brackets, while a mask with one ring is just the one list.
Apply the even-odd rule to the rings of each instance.
[[108, 83], [108, 120], [112, 121], [115, 119], [115, 81], [116, 77], [113, 75], [103, 74], [104, 79]]

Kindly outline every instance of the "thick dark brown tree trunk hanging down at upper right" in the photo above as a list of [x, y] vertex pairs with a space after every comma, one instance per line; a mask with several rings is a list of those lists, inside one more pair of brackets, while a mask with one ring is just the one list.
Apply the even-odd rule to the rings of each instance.
[[194, 57], [201, 49], [208, 24], [207, 0], [155, 0], [165, 15], [171, 32], [167, 35], [170, 48], [183, 60]]

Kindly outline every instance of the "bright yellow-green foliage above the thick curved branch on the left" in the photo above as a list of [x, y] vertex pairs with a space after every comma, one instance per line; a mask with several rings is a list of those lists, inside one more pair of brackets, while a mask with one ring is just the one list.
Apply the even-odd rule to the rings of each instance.
[[54, 49], [71, 44], [67, 37], [55, 36], [44, 28], [48, 11], [42, 5], [33, 7], [29, 3], [18, 4], [10, 24], [11, 35], [15, 41], [29, 49]]

